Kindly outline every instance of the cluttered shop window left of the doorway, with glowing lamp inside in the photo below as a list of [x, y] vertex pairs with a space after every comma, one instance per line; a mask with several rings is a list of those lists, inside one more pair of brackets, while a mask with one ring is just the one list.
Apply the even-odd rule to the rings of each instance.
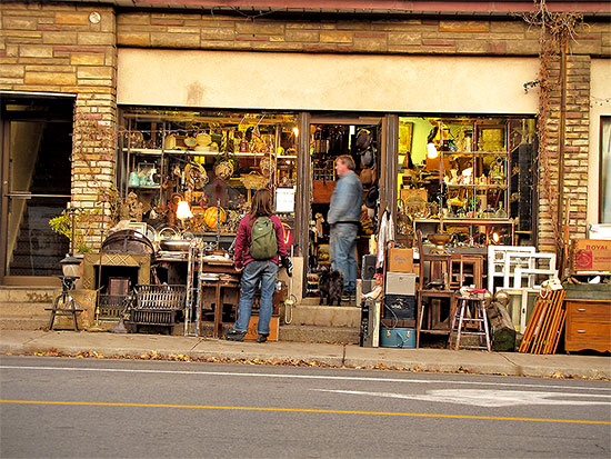
[[130, 108], [122, 119], [118, 219], [234, 235], [252, 193], [267, 188], [276, 212], [294, 227], [294, 114]]

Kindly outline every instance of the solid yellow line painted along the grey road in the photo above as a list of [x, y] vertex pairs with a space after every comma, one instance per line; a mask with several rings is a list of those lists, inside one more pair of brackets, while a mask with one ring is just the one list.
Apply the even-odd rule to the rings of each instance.
[[314, 413], [323, 413], [323, 415], [331, 413], [331, 415], [367, 415], [367, 416], [404, 416], [404, 417], [414, 417], [414, 418], [449, 418], [449, 419], [481, 419], [481, 420], [494, 420], [494, 421], [611, 425], [611, 421], [594, 421], [594, 420], [582, 420], [582, 419], [512, 418], [512, 417], [501, 417], [501, 416], [435, 415], [435, 413], [428, 413], [428, 412], [322, 410], [322, 409], [313, 409], [313, 408], [223, 407], [223, 406], [213, 406], [213, 405], [129, 403], [129, 402], [112, 402], [112, 401], [56, 401], [56, 400], [0, 400], [0, 403], [69, 405], [69, 406], [92, 406], [92, 407], [137, 407], [137, 408], [189, 408], [189, 409], [200, 409], [200, 410], [314, 412]]

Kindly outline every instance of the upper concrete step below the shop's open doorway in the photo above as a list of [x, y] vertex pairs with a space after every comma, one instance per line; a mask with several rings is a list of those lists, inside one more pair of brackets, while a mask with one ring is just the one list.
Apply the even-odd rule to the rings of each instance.
[[352, 306], [307, 306], [292, 309], [292, 325], [315, 327], [353, 327], [361, 323], [361, 308]]

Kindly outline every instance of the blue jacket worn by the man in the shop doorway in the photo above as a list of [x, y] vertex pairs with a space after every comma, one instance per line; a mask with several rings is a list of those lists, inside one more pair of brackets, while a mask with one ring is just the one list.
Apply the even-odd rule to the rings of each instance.
[[331, 194], [331, 206], [327, 214], [329, 224], [353, 222], [361, 220], [363, 202], [363, 186], [357, 174], [349, 170], [340, 176]]

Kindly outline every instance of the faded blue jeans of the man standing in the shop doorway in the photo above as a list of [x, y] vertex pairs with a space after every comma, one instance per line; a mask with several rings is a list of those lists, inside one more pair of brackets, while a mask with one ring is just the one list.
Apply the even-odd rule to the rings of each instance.
[[337, 223], [331, 228], [331, 269], [343, 272], [343, 295], [357, 295], [357, 236], [359, 227], [352, 223]]

